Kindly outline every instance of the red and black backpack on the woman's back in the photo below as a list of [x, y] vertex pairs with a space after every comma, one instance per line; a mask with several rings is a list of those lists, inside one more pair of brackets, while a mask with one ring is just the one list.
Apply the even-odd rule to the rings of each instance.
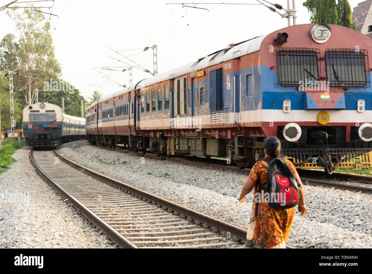
[[[299, 204], [300, 193], [292, 170], [284, 162], [285, 158], [263, 158], [269, 163], [265, 185], [258, 183], [259, 193], [264, 190], [264, 202], [280, 209], [292, 208]], [[257, 206], [256, 206], [257, 216]]]

